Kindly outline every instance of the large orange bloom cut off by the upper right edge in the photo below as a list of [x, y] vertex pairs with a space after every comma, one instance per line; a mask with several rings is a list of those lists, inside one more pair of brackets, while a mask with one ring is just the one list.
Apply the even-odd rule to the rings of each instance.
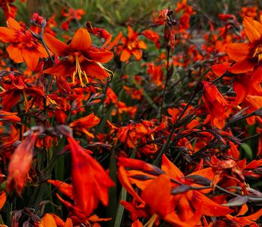
[[233, 43], [226, 48], [227, 54], [236, 61], [228, 70], [236, 74], [252, 71], [262, 60], [262, 24], [245, 17], [243, 26], [250, 42]]

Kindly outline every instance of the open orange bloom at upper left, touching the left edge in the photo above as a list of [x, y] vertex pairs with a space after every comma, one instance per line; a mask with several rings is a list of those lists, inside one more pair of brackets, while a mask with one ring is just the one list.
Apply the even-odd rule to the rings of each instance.
[[25, 62], [32, 71], [36, 70], [39, 58], [48, 56], [45, 47], [15, 19], [8, 18], [7, 24], [8, 28], [0, 27], [0, 40], [10, 43], [6, 48], [10, 58], [15, 63]]

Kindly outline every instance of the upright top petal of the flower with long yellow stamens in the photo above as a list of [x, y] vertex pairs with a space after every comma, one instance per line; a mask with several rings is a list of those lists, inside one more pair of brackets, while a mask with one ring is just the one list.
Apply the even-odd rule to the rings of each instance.
[[88, 52], [91, 49], [91, 45], [91, 37], [88, 31], [84, 28], [81, 28], [77, 30], [74, 37], [72, 38], [70, 47], [72, 47], [72, 49]]

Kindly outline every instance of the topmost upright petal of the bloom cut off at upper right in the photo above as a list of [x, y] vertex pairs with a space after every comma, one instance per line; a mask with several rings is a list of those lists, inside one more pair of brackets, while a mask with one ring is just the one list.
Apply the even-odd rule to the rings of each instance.
[[262, 38], [262, 24], [252, 17], [245, 17], [243, 20], [245, 33], [250, 41], [260, 40]]

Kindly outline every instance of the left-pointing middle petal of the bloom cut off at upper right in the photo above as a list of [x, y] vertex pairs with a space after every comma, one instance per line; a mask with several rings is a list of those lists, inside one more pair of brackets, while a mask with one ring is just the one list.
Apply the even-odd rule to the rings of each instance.
[[244, 61], [249, 56], [251, 49], [250, 43], [233, 43], [226, 47], [226, 52], [233, 61]]

